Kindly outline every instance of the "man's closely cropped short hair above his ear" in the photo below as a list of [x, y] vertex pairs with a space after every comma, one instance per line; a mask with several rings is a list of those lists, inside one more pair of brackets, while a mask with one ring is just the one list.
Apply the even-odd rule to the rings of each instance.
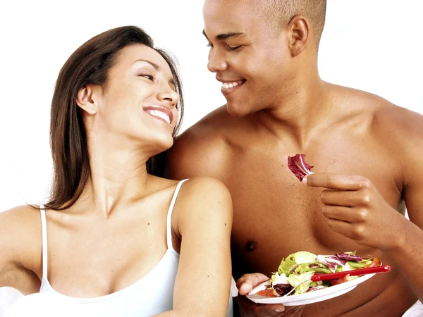
[[283, 27], [295, 15], [304, 15], [314, 30], [314, 41], [319, 47], [326, 18], [326, 0], [254, 0], [264, 11], [273, 27]]

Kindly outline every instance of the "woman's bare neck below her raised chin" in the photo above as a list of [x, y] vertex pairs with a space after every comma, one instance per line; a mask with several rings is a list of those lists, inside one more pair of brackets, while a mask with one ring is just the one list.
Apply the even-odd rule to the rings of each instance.
[[149, 191], [147, 160], [152, 154], [134, 140], [95, 135], [87, 142], [90, 178], [78, 202], [88, 207], [85, 210], [109, 218]]

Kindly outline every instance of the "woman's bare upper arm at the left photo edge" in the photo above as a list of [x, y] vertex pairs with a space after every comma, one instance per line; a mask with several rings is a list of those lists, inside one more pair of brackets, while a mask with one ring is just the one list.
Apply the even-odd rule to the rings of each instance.
[[41, 271], [41, 249], [39, 210], [19, 206], [1, 212], [0, 287], [23, 294], [38, 292], [41, 282], [34, 271]]

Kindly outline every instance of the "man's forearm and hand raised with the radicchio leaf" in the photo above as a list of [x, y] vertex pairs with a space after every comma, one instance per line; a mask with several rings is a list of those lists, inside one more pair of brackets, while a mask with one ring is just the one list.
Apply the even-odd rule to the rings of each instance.
[[[305, 179], [309, 186], [325, 188], [321, 192], [322, 213], [328, 218], [329, 227], [358, 244], [384, 251], [395, 261], [419, 299], [423, 299], [423, 253], [419, 251], [423, 245], [423, 225], [422, 218], [415, 217], [417, 210], [409, 209], [414, 223], [407, 220], [362, 176], [316, 173]], [[417, 188], [423, 189], [414, 187], [416, 192]], [[423, 197], [407, 196], [407, 206], [410, 201], [422, 206]]]

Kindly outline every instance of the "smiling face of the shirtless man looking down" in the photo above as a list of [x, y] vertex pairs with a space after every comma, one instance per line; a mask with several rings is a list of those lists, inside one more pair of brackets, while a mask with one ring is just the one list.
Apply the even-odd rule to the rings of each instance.
[[221, 92], [232, 116], [277, 106], [290, 78], [286, 31], [272, 29], [251, 2], [204, 2], [208, 68], [222, 82]]

